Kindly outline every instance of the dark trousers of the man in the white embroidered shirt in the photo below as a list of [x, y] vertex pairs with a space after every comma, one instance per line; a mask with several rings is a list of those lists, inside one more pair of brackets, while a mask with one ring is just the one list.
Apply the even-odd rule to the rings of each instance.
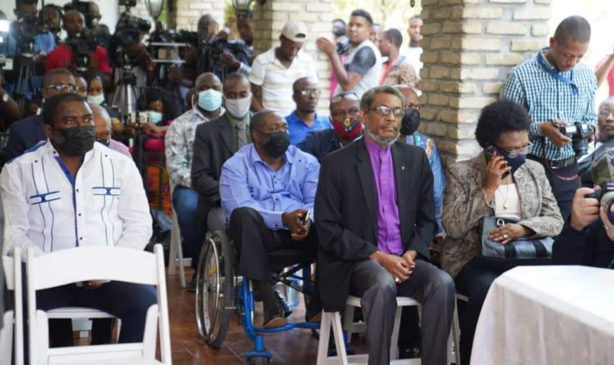
[[128, 282], [107, 282], [96, 289], [68, 284], [37, 291], [37, 308], [43, 311], [63, 306], [83, 306], [118, 317], [121, 320], [119, 343], [143, 341], [147, 310], [156, 303], [153, 286]]

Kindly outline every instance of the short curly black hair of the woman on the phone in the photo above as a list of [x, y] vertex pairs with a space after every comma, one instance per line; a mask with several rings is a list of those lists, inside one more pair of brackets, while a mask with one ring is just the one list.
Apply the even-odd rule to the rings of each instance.
[[495, 101], [482, 109], [475, 128], [475, 139], [482, 148], [493, 145], [505, 132], [528, 130], [531, 117], [524, 107], [513, 101]]

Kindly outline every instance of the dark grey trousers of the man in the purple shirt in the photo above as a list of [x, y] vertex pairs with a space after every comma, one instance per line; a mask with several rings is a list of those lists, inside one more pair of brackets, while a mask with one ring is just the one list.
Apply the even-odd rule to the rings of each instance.
[[373, 260], [364, 260], [354, 265], [350, 294], [360, 297], [369, 365], [390, 364], [397, 295], [415, 298], [422, 304], [422, 364], [447, 365], [454, 282], [446, 272], [424, 260], [416, 260], [409, 280], [397, 285], [384, 267]]

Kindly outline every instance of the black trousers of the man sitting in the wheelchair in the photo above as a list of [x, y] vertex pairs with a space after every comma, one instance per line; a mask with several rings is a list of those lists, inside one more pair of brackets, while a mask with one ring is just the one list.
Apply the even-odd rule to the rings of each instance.
[[[237, 208], [230, 216], [230, 238], [239, 258], [239, 275], [261, 282], [270, 281], [270, 271], [277, 271], [299, 262], [314, 262], [317, 253], [317, 235], [311, 227], [307, 238], [295, 241], [290, 231], [273, 231], [264, 224], [264, 218], [255, 209]], [[276, 255], [281, 249], [288, 255]], [[317, 293], [317, 290], [316, 290]]]

